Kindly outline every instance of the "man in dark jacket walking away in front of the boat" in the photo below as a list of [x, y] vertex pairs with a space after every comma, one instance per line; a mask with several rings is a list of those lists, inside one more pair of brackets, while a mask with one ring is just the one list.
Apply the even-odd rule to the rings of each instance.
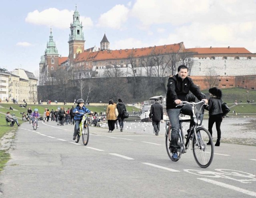
[[152, 125], [154, 127], [155, 135], [158, 135], [160, 131], [160, 121], [163, 120], [164, 112], [161, 104], [158, 103], [158, 99], [155, 99], [155, 104], [151, 105], [149, 117], [152, 118]]

